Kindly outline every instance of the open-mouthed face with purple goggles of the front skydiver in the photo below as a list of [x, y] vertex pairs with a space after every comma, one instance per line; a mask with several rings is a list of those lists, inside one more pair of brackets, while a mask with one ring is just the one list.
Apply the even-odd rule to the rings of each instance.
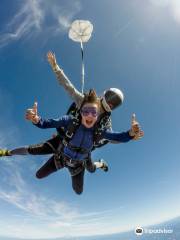
[[98, 119], [99, 109], [96, 103], [85, 103], [81, 109], [82, 120], [81, 123], [86, 128], [94, 126]]

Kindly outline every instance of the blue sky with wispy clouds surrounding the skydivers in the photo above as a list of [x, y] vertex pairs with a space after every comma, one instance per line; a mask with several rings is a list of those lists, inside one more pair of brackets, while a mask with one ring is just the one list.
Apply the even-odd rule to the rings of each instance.
[[113, 128], [129, 129], [135, 112], [145, 136], [94, 152], [110, 171], [87, 173], [81, 196], [66, 170], [35, 178], [48, 156], [1, 159], [0, 235], [110, 234], [180, 215], [178, 0], [1, 0], [0, 147], [52, 135], [24, 119], [35, 100], [44, 117], [63, 115], [71, 103], [47, 63], [48, 50], [80, 89], [80, 48], [68, 39], [75, 19], [94, 25], [85, 46], [86, 89], [122, 89], [125, 101], [113, 112]]

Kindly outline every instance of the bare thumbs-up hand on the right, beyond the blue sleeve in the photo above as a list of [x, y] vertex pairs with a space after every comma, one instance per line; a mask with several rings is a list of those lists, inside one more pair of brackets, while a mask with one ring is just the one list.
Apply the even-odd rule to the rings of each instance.
[[131, 129], [129, 135], [133, 137], [134, 140], [138, 140], [144, 136], [144, 132], [141, 130], [139, 123], [136, 120], [136, 115], [132, 115], [131, 119]]

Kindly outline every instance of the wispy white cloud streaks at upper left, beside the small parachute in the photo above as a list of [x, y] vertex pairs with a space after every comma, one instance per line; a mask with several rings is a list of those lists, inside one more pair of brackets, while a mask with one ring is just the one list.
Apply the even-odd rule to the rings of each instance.
[[[59, 1], [53, 1], [53, 4], [51, 1], [43, 0], [22, 1], [17, 13], [0, 33], [0, 48], [15, 40], [48, 30], [51, 31], [51, 35], [66, 31], [73, 17], [81, 10], [79, 1], [70, 2], [69, 6], [61, 6]], [[51, 24], [46, 21], [46, 17], [54, 19]]]

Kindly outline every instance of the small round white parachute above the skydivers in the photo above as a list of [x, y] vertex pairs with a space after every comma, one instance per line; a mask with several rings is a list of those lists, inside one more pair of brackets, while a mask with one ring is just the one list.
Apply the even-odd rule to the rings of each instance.
[[75, 42], [88, 42], [91, 38], [93, 25], [87, 20], [75, 20], [69, 30], [69, 38]]

